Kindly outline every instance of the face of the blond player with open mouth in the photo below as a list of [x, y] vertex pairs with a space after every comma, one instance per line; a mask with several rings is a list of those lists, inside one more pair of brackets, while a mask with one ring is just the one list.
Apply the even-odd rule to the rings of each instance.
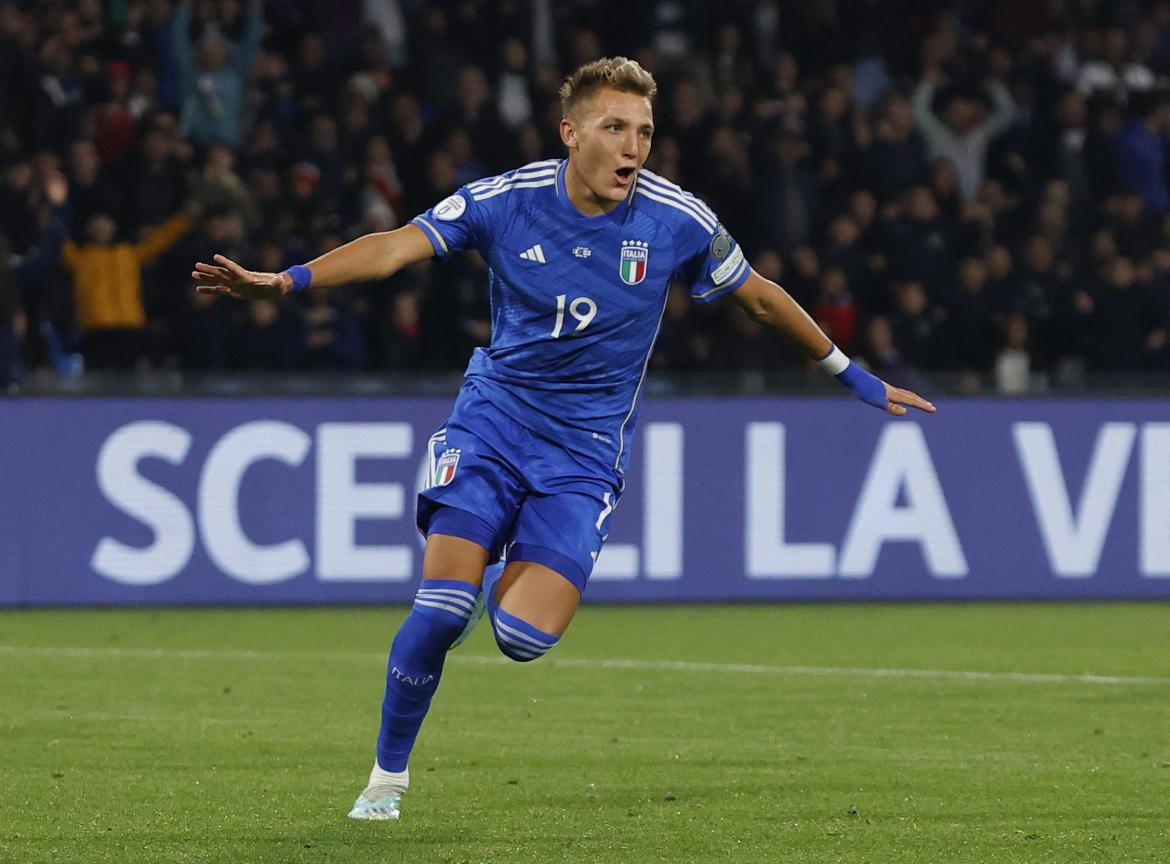
[[594, 197], [621, 201], [651, 152], [654, 112], [645, 96], [604, 88], [560, 121], [569, 158]]

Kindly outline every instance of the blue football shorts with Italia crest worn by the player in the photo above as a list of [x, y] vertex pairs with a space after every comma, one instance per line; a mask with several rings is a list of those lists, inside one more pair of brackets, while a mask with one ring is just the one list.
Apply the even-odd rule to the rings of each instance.
[[419, 494], [420, 532], [479, 543], [489, 563], [544, 564], [585, 590], [608, 535], [615, 476], [530, 432], [472, 380], [427, 446], [432, 485]]

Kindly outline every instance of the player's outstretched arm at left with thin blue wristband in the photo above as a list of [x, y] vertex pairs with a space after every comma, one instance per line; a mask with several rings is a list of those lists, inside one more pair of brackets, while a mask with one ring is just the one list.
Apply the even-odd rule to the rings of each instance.
[[226, 255], [215, 255], [215, 263], [197, 263], [191, 277], [195, 280], [195, 290], [201, 294], [229, 294], [245, 300], [275, 299], [302, 292], [310, 284], [331, 288], [386, 279], [433, 255], [434, 247], [422, 229], [405, 225], [394, 231], [365, 234], [307, 265], [289, 267], [282, 273], [246, 270]]

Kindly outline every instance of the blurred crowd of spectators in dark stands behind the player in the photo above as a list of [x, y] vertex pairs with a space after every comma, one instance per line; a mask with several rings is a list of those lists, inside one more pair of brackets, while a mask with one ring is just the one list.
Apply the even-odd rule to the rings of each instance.
[[[556, 90], [636, 57], [648, 166], [847, 352], [1021, 392], [1170, 369], [1170, 2], [0, 2], [0, 391], [87, 369], [457, 370], [475, 255], [239, 304], [192, 262], [303, 262], [560, 156]], [[799, 365], [672, 293], [667, 371]]]

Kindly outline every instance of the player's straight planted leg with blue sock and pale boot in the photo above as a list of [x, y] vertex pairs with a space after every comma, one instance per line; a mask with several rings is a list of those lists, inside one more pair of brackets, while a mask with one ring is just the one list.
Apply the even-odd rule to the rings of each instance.
[[446, 523], [450, 530], [473, 533], [466, 528], [474, 528], [476, 517], [443, 509], [446, 514], [440, 510], [431, 520], [422, 581], [390, 649], [377, 760], [351, 818], [398, 818], [399, 801], [410, 784], [407, 761], [439, 688], [443, 659], [480, 596], [488, 549], [466, 536], [441, 533]]

